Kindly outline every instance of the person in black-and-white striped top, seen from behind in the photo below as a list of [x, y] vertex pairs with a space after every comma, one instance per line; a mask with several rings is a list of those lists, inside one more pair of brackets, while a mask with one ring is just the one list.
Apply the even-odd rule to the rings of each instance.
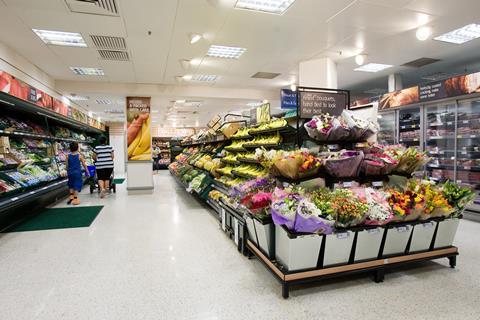
[[110, 179], [113, 173], [113, 148], [107, 145], [107, 138], [102, 136], [100, 137], [100, 145], [96, 146], [93, 152], [100, 198], [105, 198], [107, 190], [110, 190]]

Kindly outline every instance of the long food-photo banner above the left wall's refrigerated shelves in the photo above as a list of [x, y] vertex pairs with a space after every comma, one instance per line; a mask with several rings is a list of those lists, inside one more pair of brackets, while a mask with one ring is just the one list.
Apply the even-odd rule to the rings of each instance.
[[[70, 106], [63, 101], [53, 98], [44, 91], [37, 89], [2, 70], [0, 70], [0, 91], [35, 104], [38, 107], [53, 110], [55, 113], [62, 116], [73, 118], [85, 124], [89, 123], [87, 115], [84, 112], [77, 110], [72, 114], [69, 111]], [[93, 127], [105, 130], [105, 124], [98, 121], [94, 122]]]

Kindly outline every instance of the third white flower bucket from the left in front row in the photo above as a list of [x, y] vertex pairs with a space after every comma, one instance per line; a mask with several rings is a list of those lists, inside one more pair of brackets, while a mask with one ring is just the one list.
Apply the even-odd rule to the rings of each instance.
[[357, 232], [354, 261], [377, 259], [380, 253], [385, 228], [366, 229]]

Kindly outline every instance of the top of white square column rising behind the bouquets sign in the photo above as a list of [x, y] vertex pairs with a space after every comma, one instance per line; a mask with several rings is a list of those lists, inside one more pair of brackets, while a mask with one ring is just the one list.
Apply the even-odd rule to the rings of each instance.
[[335, 62], [330, 58], [300, 62], [298, 84], [301, 87], [338, 89]]

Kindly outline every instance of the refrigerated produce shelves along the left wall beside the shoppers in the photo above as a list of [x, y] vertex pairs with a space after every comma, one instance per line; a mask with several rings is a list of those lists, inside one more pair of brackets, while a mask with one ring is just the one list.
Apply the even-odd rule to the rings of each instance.
[[0, 113], [0, 229], [34, 212], [35, 206], [47, 205], [67, 193], [66, 157], [71, 142], [79, 144], [87, 165], [93, 165], [92, 144], [100, 131], [83, 128], [63, 123], [61, 118], [44, 118], [25, 110], [3, 108]]

